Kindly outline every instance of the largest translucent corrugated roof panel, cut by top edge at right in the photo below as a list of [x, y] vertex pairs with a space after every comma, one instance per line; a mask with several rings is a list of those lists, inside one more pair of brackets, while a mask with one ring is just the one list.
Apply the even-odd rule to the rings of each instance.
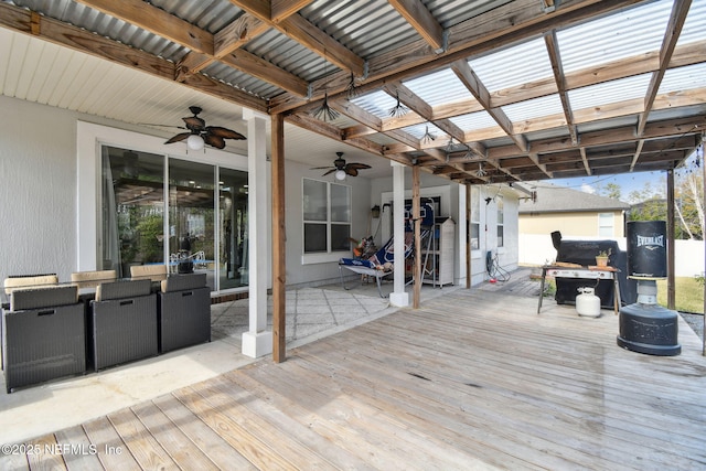
[[649, 2], [557, 31], [564, 72], [659, 51], [672, 3], [672, 0]]

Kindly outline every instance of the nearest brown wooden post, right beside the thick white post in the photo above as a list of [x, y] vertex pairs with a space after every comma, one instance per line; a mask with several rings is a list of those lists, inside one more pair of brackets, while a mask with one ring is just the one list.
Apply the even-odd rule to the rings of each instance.
[[[272, 361], [287, 358], [286, 347], [286, 268], [285, 247], [285, 117], [271, 118], [271, 172], [272, 172]], [[254, 260], [253, 260], [254, 261]]]

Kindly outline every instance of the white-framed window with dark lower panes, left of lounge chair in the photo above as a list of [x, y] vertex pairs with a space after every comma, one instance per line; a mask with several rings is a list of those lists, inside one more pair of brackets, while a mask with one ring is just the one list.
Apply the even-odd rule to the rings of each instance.
[[351, 249], [351, 188], [302, 179], [304, 263], [334, 261]]

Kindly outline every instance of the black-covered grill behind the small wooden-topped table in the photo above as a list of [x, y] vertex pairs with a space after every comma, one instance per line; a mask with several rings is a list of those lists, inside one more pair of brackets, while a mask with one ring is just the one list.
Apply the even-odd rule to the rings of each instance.
[[[556, 261], [567, 261], [584, 266], [596, 265], [596, 255], [599, 251], [610, 249], [608, 265], [618, 268], [618, 286], [620, 288], [620, 299], [622, 304], [631, 304], [638, 299], [637, 282], [629, 280], [628, 255], [621, 250], [616, 240], [566, 240], [559, 243]], [[556, 302], [557, 304], [575, 304], [578, 288], [592, 287], [596, 280], [579, 278], [557, 278], [556, 279]], [[600, 298], [601, 308], [613, 308], [613, 281], [600, 280], [596, 287], [596, 296]]]

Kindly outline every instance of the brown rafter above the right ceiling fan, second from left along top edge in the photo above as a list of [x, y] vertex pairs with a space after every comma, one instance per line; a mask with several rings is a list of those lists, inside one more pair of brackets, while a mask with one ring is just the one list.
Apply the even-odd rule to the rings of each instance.
[[269, 2], [261, 0], [231, 0], [231, 3], [257, 17], [259, 20], [277, 29], [280, 33], [297, 41], [339, 67], [350, 71], [356, 76], [364, 75], [365, 61], [363, 58], [311, 24], [301, 14], [295, 13], [275, 22], [271, 20]]

